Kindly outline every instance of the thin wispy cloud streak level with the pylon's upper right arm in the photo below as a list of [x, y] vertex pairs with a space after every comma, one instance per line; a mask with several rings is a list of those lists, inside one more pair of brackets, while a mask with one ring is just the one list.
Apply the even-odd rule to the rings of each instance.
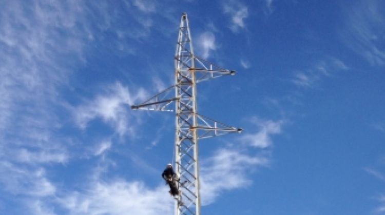
[[335, 57], [316, 62], [311, 68], [295, 71], [291, 82], [299, 87], [312, 88], [323, 77], [332, 76], [335, 72], [349, 70], [350, 68]]

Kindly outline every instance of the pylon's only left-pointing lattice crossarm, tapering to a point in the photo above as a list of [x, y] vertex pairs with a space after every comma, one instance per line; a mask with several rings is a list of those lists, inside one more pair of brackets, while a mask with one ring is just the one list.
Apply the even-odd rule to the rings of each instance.
[[177, 97], [170, 97], [169, 94], [174, 92], [175, 85], [168, 87], [167, 89], [159, 92], [158, 94], [150, 97], [150, 99], [142, 102], [139, 105], [132, 105], [132, 109], [144, 109], [144, 110], [158, 110], [158, 111], [174, 111], [174, 109], [168, 109], [168, 106], [179, 100]]

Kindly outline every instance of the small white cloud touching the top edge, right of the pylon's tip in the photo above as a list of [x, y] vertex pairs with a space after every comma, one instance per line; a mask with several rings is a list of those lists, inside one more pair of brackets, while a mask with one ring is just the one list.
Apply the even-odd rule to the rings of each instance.
[[233, 32], [238, 32], [238, 29], [245, 28], [244, 19], [248, 16], [248, 9], [240, 2], [227, 1], [223, 5], [223, 13], [229, 14], [232, 19], [230, 29]]

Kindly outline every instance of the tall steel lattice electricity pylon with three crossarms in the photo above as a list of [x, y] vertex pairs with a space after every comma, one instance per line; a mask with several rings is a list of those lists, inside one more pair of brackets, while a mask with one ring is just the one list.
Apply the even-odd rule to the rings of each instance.
[[[194, 55], [186, 13], [181, 17], [174, 61], [175, 85], [131, 108], [176, 113], [174, 166], [180, 194], [176, 196], [175, 214], [200, 215], [198, 140], [242, 132], [242, 129], [199, 114], [196, 84], [222, 75], [234, 75], [235, 71], [221, 68]], [[170, 95], [172, 91], [175, 91], [175, 96]], [[175, 109], [169, 107], [173, 102]]]

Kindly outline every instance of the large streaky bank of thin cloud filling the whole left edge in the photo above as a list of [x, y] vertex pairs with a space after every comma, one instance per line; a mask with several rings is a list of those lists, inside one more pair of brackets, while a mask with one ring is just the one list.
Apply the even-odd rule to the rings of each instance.
[[49, 214], [37, 204], [57, 191], [48, 169], [71, 157], [56, 136], [65, 121], [59, 88], [90, 40], [82, 3], [12, 1], [1, 10], [0, 193], [17, 196], [27, 213]]

